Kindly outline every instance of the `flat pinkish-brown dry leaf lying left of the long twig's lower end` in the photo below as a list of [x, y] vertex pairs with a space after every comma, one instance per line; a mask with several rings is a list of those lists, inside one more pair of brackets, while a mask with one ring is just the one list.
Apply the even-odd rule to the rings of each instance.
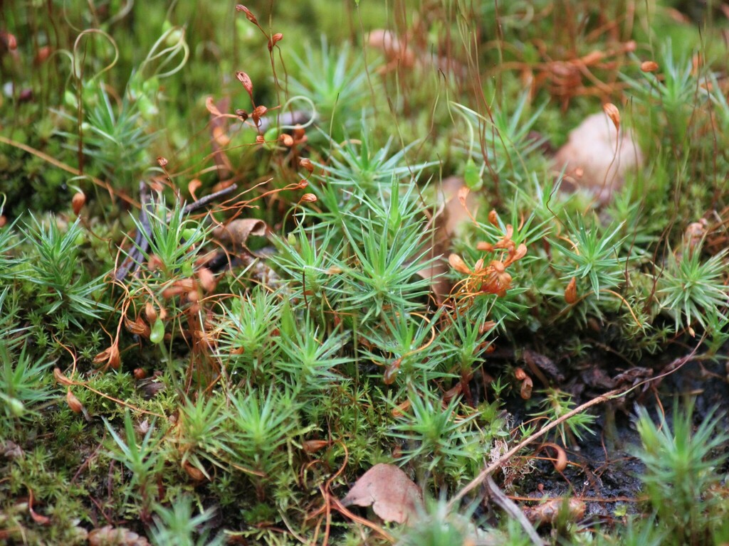
[[372, 506], [384, 521], [405, 523], [422, 506], [423, 494], [399, 467], [381, 463], [356, 480], [342, 504]]

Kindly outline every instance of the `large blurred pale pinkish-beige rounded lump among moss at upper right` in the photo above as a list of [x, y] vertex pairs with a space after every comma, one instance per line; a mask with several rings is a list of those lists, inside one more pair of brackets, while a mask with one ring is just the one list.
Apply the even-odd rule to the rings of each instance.
[[625, 183], [625, 173], [643, 165], [643, 154], [628, 130], [618, 132], [604, 112], [593, 114], [572, 132], [555, 154], [553, 168], [564, 169], [561, 189], [590, 191], [604, 205]]

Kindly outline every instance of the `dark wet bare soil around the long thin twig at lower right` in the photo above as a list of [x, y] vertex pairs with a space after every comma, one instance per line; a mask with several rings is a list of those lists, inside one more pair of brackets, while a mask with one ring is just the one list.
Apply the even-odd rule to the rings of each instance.
[[[529, 350], [523, 351], [522, 355], [524, 353], [528, 354]], [[725, 347], [724, 354], [728, 353], [729, 348]], [[553, 451], [539, 452], [540, 458], [534, 460], [533, 470], [515, 481], [514, 491], [508, 491], [523, 506], [534, 505], [527, 499], [574, 496], [585, 502], [581, 523], [588, 525], [609, 526], [620, 505], [627, 505], [620, 510], [622, 514], [639, 513], [639, 502], [643, 498], [640, 475], [644, 469], [636, 457], [640, 446], [634, 426], [637, 405], [648, 408], [655, 419], [658, 419], [658, 411], [663, 411], [670, 426], [674, 401], [693, 400], [696, 424], [703, 422], [714, 410], [722, 415], [720, 430], [729, 427], [727, 366], [716, 360], [687, 360], [685, 357], [690, 355], [690, 349], [685, 347], [644, 359], [641, 366], [634, 368], [629, 368], [609, 352], [590, 355], [580, 363], [572, 363], [569, 368], [564, 364], [554, 365], [547, 357], [534, 352], [531, 360], [535, 355], [537, 360], [542, 358], [547, 362], [545, 367], [540, 366], [544, 375], [560, 375], [561, 381], [553, 381], [553, 384], [574, 395], [574, 402], [578, 404], [620, 386], [621, 382], [642, 384], [620, 399], [592, 408], [597, 416], [592, 427], [595, 434], [583, 435], [581, 441], [565, 446], [569, 464], [563, 472], [557, 472], [553, 462], [547, 460], [553, 456]], [[497, 351], [489, 360], [496, 363], [495, 372], [496, 368], [503, 369], [504, 363], [529, 371], [523, 356], [517, 359], [510, 350]], [[507, 398], [507, 411], [517, 423], [529, 420], [533, 410], [525, 409], [525, 401], [515, 394], [516, 397]], [[556, 438], [547, 440], [561, 443]]]

